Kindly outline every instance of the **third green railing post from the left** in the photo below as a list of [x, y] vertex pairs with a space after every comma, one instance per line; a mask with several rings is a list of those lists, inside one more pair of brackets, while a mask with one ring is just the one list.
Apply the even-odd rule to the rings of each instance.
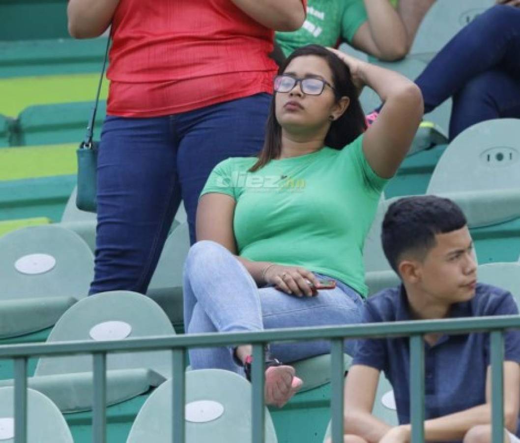
[[174, 349], [172, 355], [172, 438], [173, 443], [184, 443], [186, 434], [186, 354], [185, 349]]

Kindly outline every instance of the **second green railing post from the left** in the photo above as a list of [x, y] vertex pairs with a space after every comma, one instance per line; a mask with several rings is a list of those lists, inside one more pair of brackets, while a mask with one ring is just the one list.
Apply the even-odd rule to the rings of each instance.
[[107, 354], [105, 352], [94, 352], [92, 354], [93, 364], [93, 387], [94, 404], [92, 411], [92, 441], [93, 443], [106, 443], [107, 441]]

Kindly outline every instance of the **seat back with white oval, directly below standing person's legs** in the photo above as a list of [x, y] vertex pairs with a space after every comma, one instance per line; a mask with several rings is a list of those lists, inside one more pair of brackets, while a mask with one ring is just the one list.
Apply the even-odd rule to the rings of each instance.
[[[58, 320], [47, 343], [74, 340], [108, 340], [128, 337], [174, 335], [164, 311], [150, 298], [127, 291], [113, 291], [87, 297], [72, 306]], [[150, 369], [171, 376], [171, 352], [147, 351], [113, 353], [107, 369]], [[44, 357], [38, 360], [35, 375], [55, 375], [92, 371], [92, 356]]]

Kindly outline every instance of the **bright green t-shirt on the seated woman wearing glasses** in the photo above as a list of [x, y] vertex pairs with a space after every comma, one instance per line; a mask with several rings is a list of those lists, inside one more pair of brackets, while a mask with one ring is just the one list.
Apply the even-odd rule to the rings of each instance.
[[271, 160], [254, 173], [256, 158], [230, 158], [217, 164], [201, 195], [236, 200], [240, 256], [301, 266], [365, 296], [363, 243], [387, 181], [370, 168], [362, 138], [342, 150]]

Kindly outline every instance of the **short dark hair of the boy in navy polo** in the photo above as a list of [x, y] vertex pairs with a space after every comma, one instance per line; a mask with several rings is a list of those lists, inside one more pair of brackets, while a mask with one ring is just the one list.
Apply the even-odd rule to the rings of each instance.
[[435, 235], [462, 229], [467, 224], [461, 209], [448, 198], [421, 195], [401, 198], [388, 207], [381, 242], [386, 259], [396, 272], [404, 252], [420, 260], [435, 246]]

